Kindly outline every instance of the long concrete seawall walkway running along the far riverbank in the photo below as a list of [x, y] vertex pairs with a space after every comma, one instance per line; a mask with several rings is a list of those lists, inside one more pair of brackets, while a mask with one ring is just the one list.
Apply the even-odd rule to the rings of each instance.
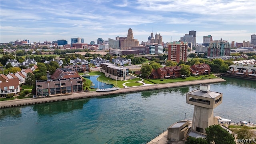
[[159, 90], [164, 88], [177, 88], [182, 86], [193, 86], [199, 84], [210, 84], [210, 83], [217, 83], [217, 82], [224, 82], [226, 80], [222, 78], [213, 78], [213, 79], [206, 79], [206, 80], [194, 80], [194, 81], [187, 81], [187, 82], [173, 82], [168, 84], [154, 84], [150, 86], [136, 86], [136, 87], [129, 87], [129, 88], [121, 88], [119, 90], [110, 91], [110, 92], [80, 92], [74, 93], [70, 95], [62, 95], [62, 96], [50, 96], [47, 98], [24, 98], [24, 99], [17, 99], [17, 100], [6, 100], [0, 102], [0, 108], [9, 108], [14, 106], [26, 106], [32, 104], [42, 104], [46, 102], [58, 102], [64, 100], [75, 100], [81, 98], [93, 98], [98, 96], [108, 96], [113, 94], [125, 94], [131, 92], [142, 92], [146, 90]]

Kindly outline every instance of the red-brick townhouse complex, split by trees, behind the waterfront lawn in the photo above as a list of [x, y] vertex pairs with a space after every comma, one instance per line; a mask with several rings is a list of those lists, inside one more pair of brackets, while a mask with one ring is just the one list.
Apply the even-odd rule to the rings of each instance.
[[[180, 78], [182, 74], [180, 73], [181, 66], [170, 66], [162, 67], [157, 70], [152, 70], [150, 78], [156, 79], [166, 79], [166, 78]], [[197, 64], [190, 67], [191, 74], [194, 75], [204, 75], [210, 74], [210, 66], [208, 64]]]

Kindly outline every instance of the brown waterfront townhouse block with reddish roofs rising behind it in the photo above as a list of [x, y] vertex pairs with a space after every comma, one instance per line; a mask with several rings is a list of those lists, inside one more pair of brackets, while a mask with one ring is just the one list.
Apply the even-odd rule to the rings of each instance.
[[58, 68], [50, 80], [36, 81], [36, 96], [53, 96], [83, 92], [83, 79], [77, 71]]

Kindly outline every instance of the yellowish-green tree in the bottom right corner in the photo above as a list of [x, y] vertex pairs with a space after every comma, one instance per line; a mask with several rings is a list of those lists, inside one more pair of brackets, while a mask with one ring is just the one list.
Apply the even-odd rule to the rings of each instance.
[[248, 126], [243, 126], [242, 128], [236, 129], [236, 139], [238, 140], [249, 140], [255, 138], [255, 134], [249, 130]]

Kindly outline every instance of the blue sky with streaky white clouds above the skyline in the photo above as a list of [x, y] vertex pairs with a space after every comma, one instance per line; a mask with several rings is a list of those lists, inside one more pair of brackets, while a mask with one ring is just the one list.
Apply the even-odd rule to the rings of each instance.
[[180, 40], [190, 30], [196, 42], [250, 41], [256, 34], [255, 0], [38, 0], [0, 1], [0, 42], [30, 42], [127, 36], [147, 41], [153, 30], [164, 42]]

